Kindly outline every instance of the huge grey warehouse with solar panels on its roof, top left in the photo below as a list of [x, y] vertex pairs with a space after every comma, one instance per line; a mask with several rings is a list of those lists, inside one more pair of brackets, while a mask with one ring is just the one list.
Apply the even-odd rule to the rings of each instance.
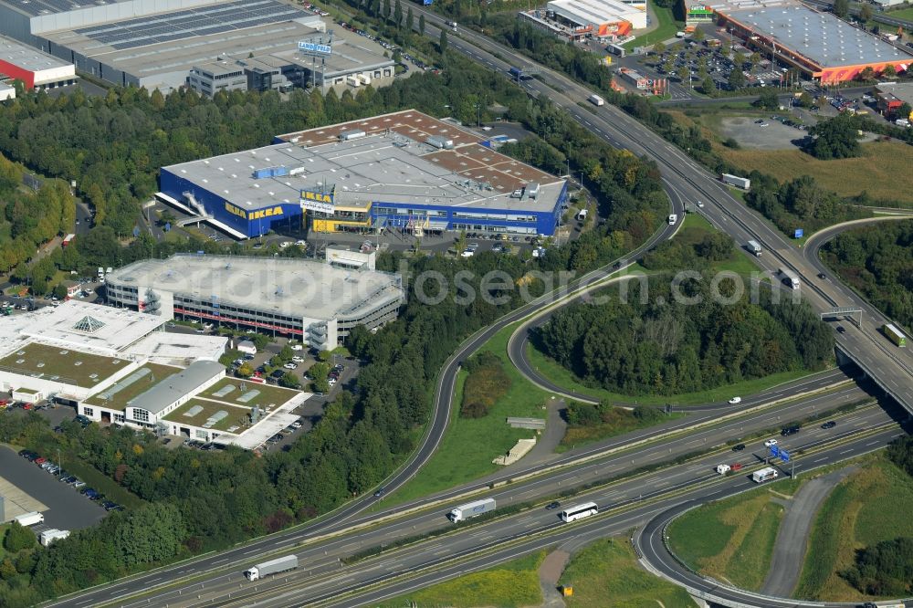
[[376, 86], [393, 76], [393, 62], [367, 38], [334, 34], [327, 46], [338, 46], [338, 57], [330, 52], [315, 60], [314, 53], [299, 50], [300, 42], [329, 34], [320, 16], [286, 0], [0, 0], [0, 35], [96, 78], [164, 91], [187, 84], [194, 67], [251, 55], [278, 74], [274, 79], [271, 68], [241, 67], [245, 89], [278, 89], [286, 82], [344, 86], [352, 74], [376, 74]]

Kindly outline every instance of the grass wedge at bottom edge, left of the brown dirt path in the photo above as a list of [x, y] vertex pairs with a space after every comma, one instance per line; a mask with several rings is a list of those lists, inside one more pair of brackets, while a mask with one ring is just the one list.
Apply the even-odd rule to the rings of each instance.
[[489, 570], [465, 574], [417, 592], [394, 598], [382, 604], [386, 608], [437, 608], [452, 606], [534, 606], [542, 601], [539, 565], [545, 559], [541, 550]]

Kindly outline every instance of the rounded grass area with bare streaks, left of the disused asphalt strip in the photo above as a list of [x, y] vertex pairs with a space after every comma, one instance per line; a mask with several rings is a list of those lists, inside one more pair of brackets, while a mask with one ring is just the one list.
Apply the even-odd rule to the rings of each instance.
[[688, 511], [669, 526], [669, 544], [692, 569], [758, 591], [783, 517], [777, 495], [792, 496], [800, 483], [781, 481]]

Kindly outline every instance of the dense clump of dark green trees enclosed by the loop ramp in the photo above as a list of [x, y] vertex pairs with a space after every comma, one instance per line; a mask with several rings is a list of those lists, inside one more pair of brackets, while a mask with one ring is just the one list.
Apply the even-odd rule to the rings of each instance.
[[822, 367], [833, 356], [834, 337], [807, 302], [760, 304], [747, 295], [732, 304], [713, 298], [709, 278], [688, 280], [679, 303], [668, 281], [600, 305], [561, 309], [534, 342], [585, 382], [617, 393], [677, 394], [715, 388], [776, 372]]

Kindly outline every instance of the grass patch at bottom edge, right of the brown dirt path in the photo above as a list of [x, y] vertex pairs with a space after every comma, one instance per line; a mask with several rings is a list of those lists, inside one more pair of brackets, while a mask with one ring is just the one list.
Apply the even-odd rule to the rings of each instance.
[[573, 557], [560, 583], [573, 587], [573, 595], [565, 599], [568, 608], [696, 605], [683, 588], [641, 569], [631, 542], [624, 538], [596, 540]]

